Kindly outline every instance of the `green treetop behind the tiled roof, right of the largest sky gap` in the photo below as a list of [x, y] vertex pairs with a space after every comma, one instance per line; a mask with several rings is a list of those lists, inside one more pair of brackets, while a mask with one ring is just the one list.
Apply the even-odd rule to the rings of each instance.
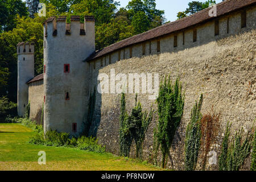
[[185, 11], [177, 13], [177, 19], [184, 18], [185, 16], [192, 15], [201, 10], [207, 9], [210, 4], [215, 3], [216, 1], [208, 0], [205, 2], [192, 1], [188, 3], [188, 8]]

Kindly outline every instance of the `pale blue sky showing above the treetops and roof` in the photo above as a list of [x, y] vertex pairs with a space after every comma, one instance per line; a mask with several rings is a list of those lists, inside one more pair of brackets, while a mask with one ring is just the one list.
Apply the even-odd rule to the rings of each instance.
[[[125, 7], [128, 5], [130, 0], [115, 0], [119, 1], [121, 7]], [[164, 16], [166, 17], [167, 21], [170, 20], [173, 22], [177, 19], [177, 13], [179, 11], [185, 11], [188, 7], [188, 3], [192, 1], [200, 1], [205, 2], [207, 0], [156, 0], [156, 9], [164, 10]], [[220, 3], [222, 0], [216, 0], [216, 3]]]

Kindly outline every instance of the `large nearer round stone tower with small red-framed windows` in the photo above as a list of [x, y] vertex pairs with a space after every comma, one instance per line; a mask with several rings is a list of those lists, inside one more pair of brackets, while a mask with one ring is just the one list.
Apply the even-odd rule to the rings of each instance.
[[78, 135], [88, 105], [87, 57], [95, 52], [93, 16], [54, 16], [44, 23], [44, 132]]

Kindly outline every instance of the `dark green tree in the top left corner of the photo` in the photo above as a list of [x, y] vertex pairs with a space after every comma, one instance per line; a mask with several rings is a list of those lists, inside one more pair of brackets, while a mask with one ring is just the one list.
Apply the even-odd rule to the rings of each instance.
[[[3, 0], [0, 2], [0, 30], [13, 30], [16, 15], [27, 16], [26, 4], [22, 0]], [[0, 31], [0, 32], [1, 32]]]

